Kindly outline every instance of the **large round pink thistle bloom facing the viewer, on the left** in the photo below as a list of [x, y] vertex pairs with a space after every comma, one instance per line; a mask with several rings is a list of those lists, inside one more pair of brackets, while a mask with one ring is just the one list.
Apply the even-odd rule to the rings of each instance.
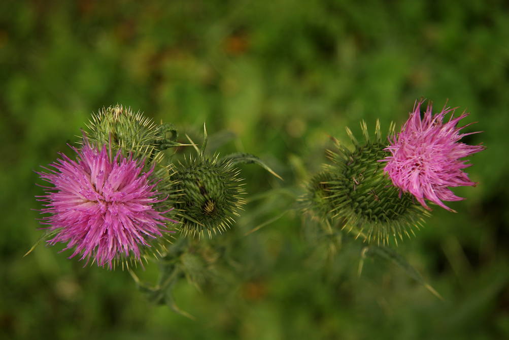
[[88, 142], [73, 149], [77, 161], [62, 154], [63, 159], [50, 165], [54, 169], [38, 173], [54, 186], [45, 187], [40, 199], [47, 203], [42, 213], [51, 214], [42, 223], [56, 232], [48, 243], [68, 242], [64, 250], [74, 248], [70, 257], [80, 254], [87, 263], [92, 257], [109, 269], [121, 257], [139, 261], [140, 249], [162, 237], [169, 220], [154, 210], [162, 201], [149, 180], [154, 166], [142, 173], [143, 163], [120, 151], [112, 159], [106, 146], [99, 149]]

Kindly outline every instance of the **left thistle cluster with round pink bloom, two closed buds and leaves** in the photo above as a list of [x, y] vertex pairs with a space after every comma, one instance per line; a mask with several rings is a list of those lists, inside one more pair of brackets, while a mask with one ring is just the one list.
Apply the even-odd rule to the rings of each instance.
[[[235, 164], [255, 163], [276, 174], [248, 153], [206, 155], [206, 129], [198, 150], [192, 141], [177, 141], [173, 124], [156, 125], [122, 106], [94, 114], [88, 127], [81, 147], [73, 147], [76, 160], [62, 154], [38, 173], [51, 186], [39, 199], [45, 203], [41, 223], [46, 228], [29, 253], [44, 241], [65, 243], [64, 250], [73, 251], [70, 257], [109, 269], [126, 265], [151, 300], [189, 316], [173, 302], [172, 289], [184, 277], [199, 286], [214, 272], [220, 254], [213, 244], [187, 236], [207, 232], [212, 238], [232, 225], [243, 203]], [[177, 165], [173, 155], [164, 159], [163, 150], [186, 145], [197, 155]], [[160, 284], [139, 282], [129, 267], [142, 259], [159, 265]]]

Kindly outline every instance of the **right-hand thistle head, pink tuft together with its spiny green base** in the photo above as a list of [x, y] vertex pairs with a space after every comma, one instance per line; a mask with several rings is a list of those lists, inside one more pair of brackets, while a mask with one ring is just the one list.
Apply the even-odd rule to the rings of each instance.
[[[328, 156], [334, 165], [325, 165], [324, 171], [310, 180], [303, 198], [306, 210], [340, 220], [342, 228], [355, 229], [368, 243], [384, 244], [390, 236], [396, 242], [397, 236], [410, 237], [409, 231], [422, 225], [431, 210], [425, 199], [453, 211], [442, 201], [461, 198], [448, 188], [475, 185], [463, 172], [469, 165], [461, 158], [484, 147], [459, 142], [474, 134], [459, 134], [463, 127], [456, 125], [465, 113], [454, 118], [455, 109], [444, 107], [433, 116], [430, 102], [421, 120], [421, 103], [416, 102], [398, 135], [391, 124], [388, 145], [378, 121], [373, 141], [365, 122], [361, 122], [362, 143], [346, 128], [353, 150], [333, 138], [338, 151], [329, 151]], [[449, 112], [451, 117], [444, 123]]]

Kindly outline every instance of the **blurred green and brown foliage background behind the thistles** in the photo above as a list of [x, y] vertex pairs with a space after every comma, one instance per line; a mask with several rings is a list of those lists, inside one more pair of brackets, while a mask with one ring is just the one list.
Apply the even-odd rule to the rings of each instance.
[[[498, 339], [509, 337], [509, 3], [507, 1], [0, 2], [0, 337], [51, 339]], [[278, 172], [241, 166], [247, 197], [300, 183], [327, 135], [364, 119], [397, 129], [414, 101], [468, 107], [476, 188], [455, 192], [398, 251], [444, 297], [368, 259], [360, 240], [327, 263], [284, 195], [249, 203], [228, 232], [240, 264], [175, 299], [148, 303], [126, 271], [82, 268], [40, 236], [34, 170], [72, 154], [103, 107], [239, 138]], [[317, 151], [319, 150], [319, 151]], [[286, 189], [285, 189], [286, 190]], [[274, 197], [278, 199], [274, 199]], [[224, 236], [223, 236], [224, 237]], [[136, 271], [154, 281], [157, 271]]]

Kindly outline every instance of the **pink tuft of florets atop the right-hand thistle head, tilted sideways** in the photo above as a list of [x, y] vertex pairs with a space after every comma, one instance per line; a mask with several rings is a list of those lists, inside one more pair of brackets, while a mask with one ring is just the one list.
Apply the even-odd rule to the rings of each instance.
[[[391, 156], [382, 162], [387, 162], [384, 173], [388, 174], [392, 184], [403, 192], [410, 192], [428, 210], [425, 198], [441, 207], [453, 211], [442, 201], [460, 201], [450, 189], [459, 186], [475, 186], [476, 183], [468, 178], [463, 169], [471, 164], [461, 161], [462, 158], [484, 149], [481, 145], [467, 145], [459, 140], [468, 135], [460, 134], [463, 127], [456, 127], [458, 122], [468, 114], [463, 113], [454, 117], [457, 109], [443, 108], [442, 112], [432, 116], [432, 103], [420, 118], [420, 104], [416, 101], [410, 118], [403, 125], [398, 136], [389, 137], [389, 146], [384, 150], [390, 151]], [[443, 122], [444, 116], [451, 112], [448, 122]], [[400, 194], [401, 194], [400, 191]]]

